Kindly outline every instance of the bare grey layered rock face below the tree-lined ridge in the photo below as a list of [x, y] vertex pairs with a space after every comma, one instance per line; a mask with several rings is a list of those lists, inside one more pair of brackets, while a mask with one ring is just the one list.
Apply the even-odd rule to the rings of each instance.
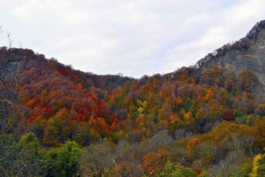
[[261, 85], [258, 90], [265, 90], [265, 28], [254, 34], [247, 42], [244, 49], [228, 50], [224, 55], [213, 57], [201, 67], [201, 70], [212, 68], [214, 65], [224, 67], [238, 75], [243, 69], [248, 69], [256, 74]]

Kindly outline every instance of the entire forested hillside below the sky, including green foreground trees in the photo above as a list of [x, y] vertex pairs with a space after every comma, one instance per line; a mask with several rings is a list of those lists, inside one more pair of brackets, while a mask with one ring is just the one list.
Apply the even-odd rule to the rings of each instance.
[[1, 176], [265, 174], [265, 97], [248, 68], [135, 79], [29, 49], [0, 56]]

